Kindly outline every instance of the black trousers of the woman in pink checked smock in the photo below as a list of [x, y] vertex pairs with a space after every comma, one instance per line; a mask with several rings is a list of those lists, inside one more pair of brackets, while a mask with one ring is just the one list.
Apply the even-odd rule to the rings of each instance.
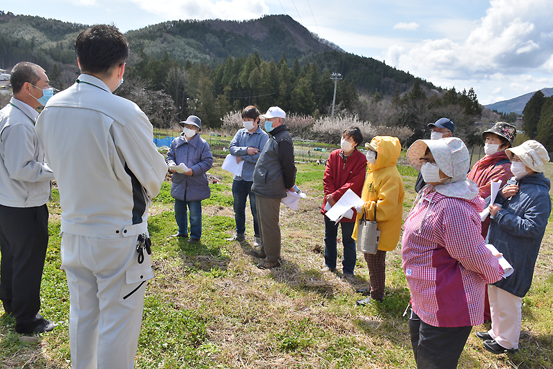
[[411, 311], [409, 333], [418, 369], [455, 369], [472, 327], [434, 327]]

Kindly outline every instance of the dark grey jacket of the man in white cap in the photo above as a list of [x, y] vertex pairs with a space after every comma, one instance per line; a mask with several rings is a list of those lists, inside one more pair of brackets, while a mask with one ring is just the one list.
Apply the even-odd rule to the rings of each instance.
[[265, 198], [285, 198], [295, 181], [294, 143], [286, 126], [278, 126], [255, 164], [252, 191]]

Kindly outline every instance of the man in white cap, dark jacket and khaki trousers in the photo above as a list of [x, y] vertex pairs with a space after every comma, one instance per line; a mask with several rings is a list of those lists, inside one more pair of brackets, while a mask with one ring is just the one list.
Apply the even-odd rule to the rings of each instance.
[[261, 236], [261, 247], [254, 249], [254, 256], [265, 259], [257, 267], [270, 269], [281, 266], [281, 199], [286, 197], [287, 190], [293, 191], [296, 166], [294, 143], [284, 124], [286, 113], [278, 106], [271, 106], [260, 116], [265, 118], [265, 131], [270, 140], [263, 147], [254, 169], [252, 191], [256, 195]]

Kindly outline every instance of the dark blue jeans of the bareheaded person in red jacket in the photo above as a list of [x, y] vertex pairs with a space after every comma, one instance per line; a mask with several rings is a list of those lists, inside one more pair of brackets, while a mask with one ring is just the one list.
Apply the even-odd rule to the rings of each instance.
[[344, 245], [344, 260], [341, 262], [342, 271], [346, 274], [353, 274], [357, 252], [355, 251], [355, 240], [351, 238], [351, 234], [355, 222], [335, 224], [327, 216], [324, 217], [324, 263], [330, 269], [336, 267], [338, 225], [341, 225], [341, 243]]

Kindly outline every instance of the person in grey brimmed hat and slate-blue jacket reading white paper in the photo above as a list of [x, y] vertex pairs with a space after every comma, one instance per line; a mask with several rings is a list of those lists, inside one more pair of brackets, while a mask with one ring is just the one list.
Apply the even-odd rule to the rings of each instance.
[[[202, 236], [202, 200], [211, 196], [205, 172], [213, 165], [213, 155], [209, 144], [200, 138], [202, 121], [196, 115], [190, 115], [185, 122], [180, 136], [171, 142], [167, 152], [167, 165], [184, 163], [188, 168], [184, 173], [173, 173], [171, 179], [171, 196], [175, 199], [175, 220], [178, 232], [174, 237], [188, 237], [187, 243], [200, 242]], [[190, 234], [188, 233], [188, 214], [190, 211]]]

